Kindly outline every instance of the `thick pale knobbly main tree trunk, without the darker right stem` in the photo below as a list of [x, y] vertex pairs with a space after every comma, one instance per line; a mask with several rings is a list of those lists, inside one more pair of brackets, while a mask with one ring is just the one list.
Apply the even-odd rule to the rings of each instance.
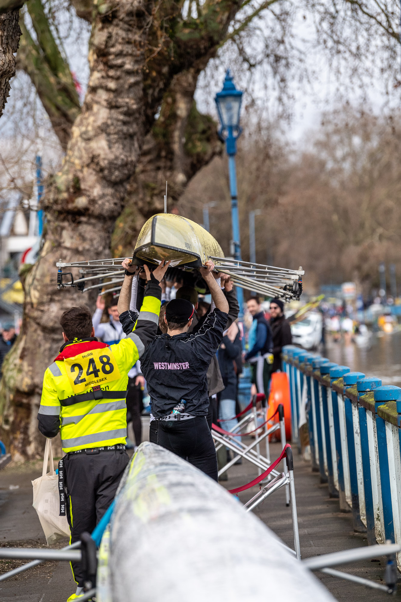
[[42, 450], [36, 417], [43, 374], [63, 342], [60, 315], [88, 300], [75, 289], [57, 291], [55, 262], [109, 255], [114, 221], [140, 155], [150, 14], [150, 3], [140, 0], [120, 0], [115, 7], [98, 2], [87, 95], [63, 168], [45, 196], [45, 243], [25, 274], [22, 329], [3, 367], [0, 438], [16, 459], [36, 458]]

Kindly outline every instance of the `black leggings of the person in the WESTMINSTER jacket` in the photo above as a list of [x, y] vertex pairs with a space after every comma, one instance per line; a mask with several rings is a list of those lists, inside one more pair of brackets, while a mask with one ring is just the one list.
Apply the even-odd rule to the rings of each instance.
[[157, 442], [217, 481], [216, 448], [205, 416], [160, 420]]

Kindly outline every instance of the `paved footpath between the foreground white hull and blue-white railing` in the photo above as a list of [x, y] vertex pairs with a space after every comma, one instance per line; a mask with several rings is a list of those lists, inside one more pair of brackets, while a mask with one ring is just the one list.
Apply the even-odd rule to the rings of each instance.
[[[270, 444], [272, 460], [277, 458], [280, 452], [280, 444]], [[281, 464], [279, 468], [283, 470]], [[249, 483], [257, 474], [256, 468], [253, 469], [249, 462], [244, 462], [229, 471], [229, 480], [222, 482], [222, 485], [227, 489], [234, 489], [244, 483]], [[338, 499], [329, 498], [328, 487], [320, 484], [319, 473], [312, 473], [311, 465], [304, 462], [296, 451], [294, 451], [294, 482], [303, 558], [367, 545], [367, 539], [363, 534], [353, 533], [351, 515], [340, 512]], [[257, 487], [241, 492], [238, 497], [245, 502], [255, 495], [256, 491], [258, 491]], [[285, 506], [285, 492], [282, 488], [256, 507], [254, 512], [285, 544], [294, 549], [290, 510], [290, 507]], [[385, 557], [377, 557], [373, 561], [364, 560], [352, 565], [333, 568], [381, 583], [385, 565]], [[388, 598], [388, 594], [385, 592], [365, 588], [343, 579], [323, 573], [316, 573], [316, 576], [337, 600], [381, 602]], [[266, 585], [268, 591], [269, 584]], [[401, 600], [401, 583], [399, 591], [392, 599]]]

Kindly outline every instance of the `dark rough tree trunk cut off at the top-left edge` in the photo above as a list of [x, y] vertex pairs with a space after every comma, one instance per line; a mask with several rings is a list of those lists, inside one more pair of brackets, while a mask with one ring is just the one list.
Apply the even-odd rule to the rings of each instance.
[[21, 35], [19, 8], [0, 14], [0, 117], [10, 93], [10, 79], [15, 75], [15, 57]]

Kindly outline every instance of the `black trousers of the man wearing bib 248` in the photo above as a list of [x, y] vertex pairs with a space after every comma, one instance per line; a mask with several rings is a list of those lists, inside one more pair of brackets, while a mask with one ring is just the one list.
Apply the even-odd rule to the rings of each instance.
[[[116, 495], [122, 473], [129, 462], [125, 450], [95, 454], [69, 454], [64, 458], [67, 486], [67, 520], [70, 543], [81, 533], [92, 533]], [[81, 563], [71, 563], [72, 574], [79, 587], [84, 585]]]

